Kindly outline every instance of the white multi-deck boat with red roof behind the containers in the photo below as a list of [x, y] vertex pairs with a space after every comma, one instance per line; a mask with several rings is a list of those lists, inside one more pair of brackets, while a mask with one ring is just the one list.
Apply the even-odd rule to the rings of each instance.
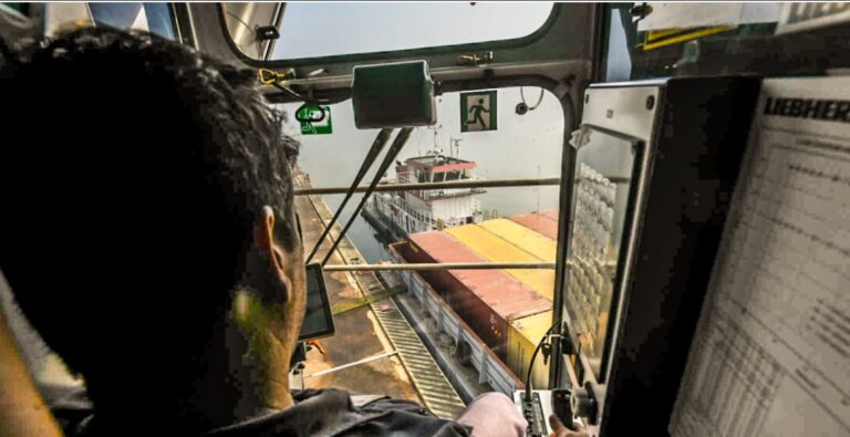
[[[475, 175], [475, 162], [446, 156], [438, 149], [396, 164], [396, 177], [384, 183], [483, 180]], [[362, 214], [375, 230], [387, 237], [385, 240], [397, 241], [408, 233], [481, 221], [485, 214], [475, 196], [483, 193], [481, 188], [376, 193], [370, 197]]]

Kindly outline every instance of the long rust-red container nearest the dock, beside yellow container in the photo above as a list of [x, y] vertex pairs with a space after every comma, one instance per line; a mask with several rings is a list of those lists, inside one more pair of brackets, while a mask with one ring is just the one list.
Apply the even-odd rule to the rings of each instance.
[[[487, 262], [450, 236], [411, 235], [394, 246], [407, 262]], [[419, 274], [502, 361], [509, 322], [552, 309], [541, 298], [501, 270], [436, 270]]]

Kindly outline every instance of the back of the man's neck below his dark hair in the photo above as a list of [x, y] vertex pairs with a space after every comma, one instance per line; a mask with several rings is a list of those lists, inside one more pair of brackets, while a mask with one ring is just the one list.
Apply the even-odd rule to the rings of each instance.
[[[162, 393], [169, 399], [184, 399], [179, 405], [167, 399], [158, 403], [137, 399], [146, 405], [107, 400], [106, 405], [111, 405], [107, 408], [96, 407], [97, 427], [106, 427], [110, 423], [136, 423], [142, 408], [149, 412], [143, 420], [151, 426], [167, 422], [170, 427], [170, 424], [179, 423], [182, 429], [197, 434], [294, 405], [289, 389], [291, 351], [272, 335], [274, 326], [271, 322], [256, 312], [262, 310], [253, 310], [249, 316], [245, 316], [245, 311], [222, 316], [209, 334], [203, 351], [204, 363], [197, 366], [200, 368], [185, 378], [186, 391], [182, 394]], [[145, 388], [159, 393], [154, 387]], [[151, 405], [154, 403], [158, 405]], [[95, 405], [104, 404], [95, 399]], [[172, 417], [163, 417], [165, 415]]]

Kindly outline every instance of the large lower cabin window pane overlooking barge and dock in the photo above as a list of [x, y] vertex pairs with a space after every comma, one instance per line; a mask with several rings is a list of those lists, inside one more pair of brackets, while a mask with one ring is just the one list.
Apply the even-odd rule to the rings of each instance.
[[[531, 356], [553, 323], [554, 261], [561, 212], [559, 175], [566, 124], [561, 102], [546, 90], [526, 86], [522, 92], [519, 87], [470, 92], [495, 93], [493, 104], [496, 107], [490, 110], [498, 113], [498, 128], [463, 132], [462, 124], [469, 117], [469, 114], [462, 116], [464, 93], [447, 92], [438, 96], [437, 124], [414, 128], [382, 175], [375, 175], [385, 159], [384, 154], [379, 156], [360, 185], [369, 185], [377, 176], [377, 187], [394, 184], [439, 186], [373, 193], [362, 211], [354, 216], [345, 235], [348, 242], [340, 244], [344, 249], [332, 254], [328, 262], [329, 266], [348, 263], [350, 258], [345, 258], [352, 257], [357, 258], [356, 262], [370, 264], [519, 262], [531, 266], [522, 269], [353, 273], [356, 283], [370, 293], [392, 294], [402, 287], [404, 291], [393, 294], [392, 300], [374, 304], [380, 314], [377, 319], [385, 316], [382, 311], [402, 313], [411, 327], [392, 323], [385, 329], [386, 334], [395, 339], [410, 334], [413, 329], [413, 335], [431, 351], [431, 354], [427, 351], [423, 354], [432, 356], [417, 363], [412, 372], [442, 366], [439, 372], [450, 385], [448, 391], [457, 393], [464, 402], [485, 392], [509, 394], [525, 386], [529, 367], [535, 387], [548, 385], [552, 360], [545, 363], [538, 354], [531, 365]], [[541, 95], [540, 103], [533, 111], [518, 114], [515, 110], [524, 95], [533, 96], [535, 102]], [[282, 104], [278, 107], [292, 114], [299, 106]], [[311, 222], [310, 217], [315, 217], [317, 211], [325, 211], [319, 214], [325, 222], [333, 215], [379, 134], [379, 129], [354, 126], [351, 101], [329, 107], [334, 124], [331, 135], [302, 135], [299, 122], [291, 117], [284, 124], [284, 131], [301, 143], [300, 176], [297, 178], [300, 188], [340, 187], [335, 194], [298, 196], [302, 223]], [[388, 143], [392, 144], [392, 138]], [[487, 186], [489, 183], [500, 185]], [[354, 215], [361, 196], [354, 194], [346, 204], [340, 226]], [[308, 252], [321, 231], [321, 228], [309, 228], [307, 225], [304, 232]], [[325, 256], [328, 246], [321, 246], [319, 260]], [[551, 267], [541, 268], [543, 264]], [[335, 283], [338, 278], [340, 284]], [[351, 292], [340, 291], [334, 295], [334, 289], [350, 287], [344, 275], [334, 273], [326, 282], [331, 302], [352, 299]], [[351, 350], [351, 344], [364, 336], [355, 335], [357, 331], [345, 324], [371, 326], [373, 322], [365, 314], [367, 310], [353, 309], [338, 314], [336, 335], [323, 342], [331, 348]], [[359, 329], [362, 333], [362, 326]], [[349, 332], [353, 333], [349, 335]], [[379, 346], [380, 343], [364, 345], [363, 351]], [[346, 362], [371, 355], [352, 351]], [[401, 365], [393, 356], [364, 366], [393, 374], [395, 362]], [[310, 368], [311, 363], [308, 361], [307, 364]], [[341, 364], [345, 363], [322, 365]], [[350, 385], [356, 383], [356, 378], [345, 377], [357, 371], [356, 367], [340, 371], [333, 383], [343, 388], [362, 389]], [[375, 384], [373, 392], [396, 393], [397, 386], [403, 385], [393, 378], [375, 377], [372, 381]], [[322, 386], [322, 383], [321, 379], [305, 379], [307, 387]], [[428, 389], [423, 391], [427, 396]], [[445, 413], [446, 417], [450, 416]]]

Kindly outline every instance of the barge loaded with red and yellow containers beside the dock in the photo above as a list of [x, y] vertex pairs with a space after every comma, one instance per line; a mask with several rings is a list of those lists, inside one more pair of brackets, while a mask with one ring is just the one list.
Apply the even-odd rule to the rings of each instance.
[[[388, 250], [398, 263], [553, 262], [557, 217], [557, 210], [529, 212], [415, 232]], [[552, 270], [403, 271], [397, 275], [418, 306], [407, 310], [433, 320], [452, 339], [457, 361], [474, 367], [479, 381], [501, 392], [522, 385], [535, 347], [552, 324]], [[548, 365], [538, 357], [532, 385], [547, 386], [548, 376]]]

